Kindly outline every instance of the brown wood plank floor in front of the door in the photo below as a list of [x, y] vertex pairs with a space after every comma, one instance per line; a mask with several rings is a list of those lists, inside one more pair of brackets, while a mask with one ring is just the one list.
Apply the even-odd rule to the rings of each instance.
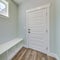
[[47, 56], [42, 52], [29, 49], [22, 48], [13, 58], [12, 60], [56, 60], [53, 57]]

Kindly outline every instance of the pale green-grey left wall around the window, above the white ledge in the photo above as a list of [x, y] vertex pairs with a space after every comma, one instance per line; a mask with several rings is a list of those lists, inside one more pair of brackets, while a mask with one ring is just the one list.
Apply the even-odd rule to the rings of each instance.
[[0, 44], [17, 36], [18, 7], [11, 0], [8, 2], [9, 17], [0, 16]]

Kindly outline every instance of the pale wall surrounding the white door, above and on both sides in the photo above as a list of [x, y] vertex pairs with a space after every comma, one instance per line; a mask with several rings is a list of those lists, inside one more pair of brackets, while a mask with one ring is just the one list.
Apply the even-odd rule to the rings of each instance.
[[51, 3], [50, 7], [50, 51], [55, 52], [55, 39], [54, 39], [54, 6], [55, 0], [24, 0], [19, 6], [19, 37], [25, 39], [26, 45], [26, 10], [39, 7]]

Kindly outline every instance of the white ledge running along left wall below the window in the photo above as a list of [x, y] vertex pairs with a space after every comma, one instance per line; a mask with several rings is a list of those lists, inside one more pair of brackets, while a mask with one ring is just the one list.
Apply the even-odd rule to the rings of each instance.
[[23, 39], [14, 39], [11, 40], [9, 42], [0, 44], [0, 55], [3, 54], [4, 52], [6, 52], [7, 50], [9, 50], [10, 48], [12, 48], [13, 46], [15, 46], [16, 44], [18, 44], [19, 42], [21, 42]]

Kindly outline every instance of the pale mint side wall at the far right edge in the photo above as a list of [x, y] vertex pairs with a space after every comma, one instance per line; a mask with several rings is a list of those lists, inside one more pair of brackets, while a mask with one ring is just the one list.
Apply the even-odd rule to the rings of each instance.
[[60, 0], [56, 0], [56, 53], [60, 57]]

